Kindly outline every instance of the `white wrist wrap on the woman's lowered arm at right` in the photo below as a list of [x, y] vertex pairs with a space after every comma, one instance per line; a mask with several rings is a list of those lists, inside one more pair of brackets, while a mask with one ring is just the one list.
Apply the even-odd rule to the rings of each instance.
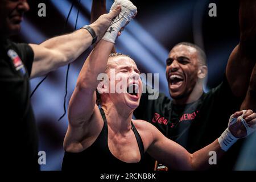
[[232, 135], [232, 133], [229, 131], [229, 129], [227, 128], [220, 136], [220, 138], [218, 138], [218, 143], [220, 143], [220, 147], [222, 150], [224, 151], [228, 151], [228, 149], [234, 144], [236, 143], [236, 141], [239, 138], [234, 137], [234, 135]]

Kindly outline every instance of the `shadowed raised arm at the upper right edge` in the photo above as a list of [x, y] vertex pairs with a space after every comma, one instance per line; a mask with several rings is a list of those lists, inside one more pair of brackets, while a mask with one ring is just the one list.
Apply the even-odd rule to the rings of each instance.
[[240, 1], [240, 43], [231, 53], [226, 77], [234, 96], [245, 98], [256, 63], [256, 1]]

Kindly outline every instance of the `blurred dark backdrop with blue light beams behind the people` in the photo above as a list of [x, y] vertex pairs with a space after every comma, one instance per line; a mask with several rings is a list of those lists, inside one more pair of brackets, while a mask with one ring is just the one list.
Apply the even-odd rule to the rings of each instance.
[[[100, 1], [100, 0], [99, 0]], [[39, 3], [46, 4], [46, 17], [39, 17]], [[74, 6], [63, 31], [72, 2]], [[108, 10], [113, 0], [106, 0]], [[142, 73], [159, 73], [159, 90], [168, 96], [165, 63], [170, 49], [179, 42], [195, 43], [204, 49], [208, 60], [205, 92], [220, 84], [232, 49], [238, 44], [238, 1], [132, 1], [138, 8], [137, 17], [117, 39], [117, 52], [130, 55]], [[217, 17], [210, 17], [209, 3], [216, 3]], [[89, 24], [92, 0], [33, 0], [15, 42], [37, 43]], [[67, 104], [75, 88], [77, 76], [91, 49], [71, 64], [68, 75]], [[68, 127], [64, 113], [65, 77], [67, 67], [49, 73], [32, 97], [39, 131], [39, 150], [46, 151], [46, 165], [41, 170], [60, 170], [63, 159], [63, 139]], [[42, 80], [31, 80], [31, 90]], [[256, 150], [254, 150], [256, 151]], [[256, 156], [255, 152], [253, 153]], [[241, 164], [242, 165], [242, 164]]]

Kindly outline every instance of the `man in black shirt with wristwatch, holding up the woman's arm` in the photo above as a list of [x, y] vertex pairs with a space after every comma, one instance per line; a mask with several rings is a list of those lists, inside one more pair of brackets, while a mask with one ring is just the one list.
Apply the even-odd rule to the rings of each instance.
[[120, 7], [102, 15], [89, 27], [48, 39], [42, 44], [13, 43], [9, 37], [18, 34], [23, 13], [28, 10], [26, 0], [0, 1], [0, 115], [1, 129], [7, 132], [1, 137], [1, 166], [6, 170], [39, 169], [29, 78], [45, 75], [76, 60], [92, 42], [100, 40]]

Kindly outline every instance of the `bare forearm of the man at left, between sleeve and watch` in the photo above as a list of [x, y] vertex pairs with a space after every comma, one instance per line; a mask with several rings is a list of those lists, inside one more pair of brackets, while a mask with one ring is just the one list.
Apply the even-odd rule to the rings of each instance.
[[92, 43], [87, 30], [77, 30], [71, 34], [56, 36], [40, 45], [30, 44], [34, 51], [31, 78], [43, 76], [76, 60]]

